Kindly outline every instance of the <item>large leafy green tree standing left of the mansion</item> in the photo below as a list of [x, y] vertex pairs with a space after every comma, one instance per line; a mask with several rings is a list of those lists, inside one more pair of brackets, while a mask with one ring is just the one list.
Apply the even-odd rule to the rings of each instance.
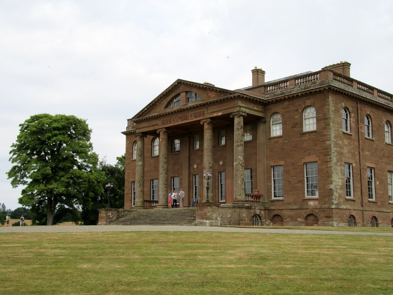
[[86, 121], [75, 116], [39, 114], [20, 124], [8, 178], [13, 187], [25, 186], [19, 203], [45, 214], [47, 225], [54, 224], [56, 208], [77, 210], [101, 190], [105, 178], [90, 134]]

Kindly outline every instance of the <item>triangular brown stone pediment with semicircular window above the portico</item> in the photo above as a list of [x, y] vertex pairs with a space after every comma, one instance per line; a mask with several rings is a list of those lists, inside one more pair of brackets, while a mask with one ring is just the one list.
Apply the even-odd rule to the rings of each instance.
[[237, 93], [237, 91], [218, 88], [211, 84], [178, 79], [131, 119], [174, 112], [184, 107], [205, 104]]

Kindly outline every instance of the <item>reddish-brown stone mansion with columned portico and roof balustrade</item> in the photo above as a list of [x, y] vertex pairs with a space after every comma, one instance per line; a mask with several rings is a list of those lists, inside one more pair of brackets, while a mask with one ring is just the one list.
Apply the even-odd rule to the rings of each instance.
[[270, 82], [255, 67], [236, 90], [176, 80], [128, 119], [124, 208], [182, 188], [199, 225], [393, 226], [393, 96], [350, 65]]

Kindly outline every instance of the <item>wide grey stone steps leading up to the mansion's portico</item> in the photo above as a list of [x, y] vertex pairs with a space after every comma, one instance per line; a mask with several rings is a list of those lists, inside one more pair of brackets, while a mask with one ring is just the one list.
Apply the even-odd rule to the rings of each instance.
[[136, 209], [126, 213], [111, 225], [195, 225], [196, 209], [184, 208], [154, 208]]

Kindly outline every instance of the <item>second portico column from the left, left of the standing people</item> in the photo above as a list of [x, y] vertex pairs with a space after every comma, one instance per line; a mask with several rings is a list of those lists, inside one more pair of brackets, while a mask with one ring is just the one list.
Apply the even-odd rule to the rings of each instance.
[[157, 130], [160, 134], [160, 153], [158, 170], [158, 207], [168, 207], [168, 129]]

